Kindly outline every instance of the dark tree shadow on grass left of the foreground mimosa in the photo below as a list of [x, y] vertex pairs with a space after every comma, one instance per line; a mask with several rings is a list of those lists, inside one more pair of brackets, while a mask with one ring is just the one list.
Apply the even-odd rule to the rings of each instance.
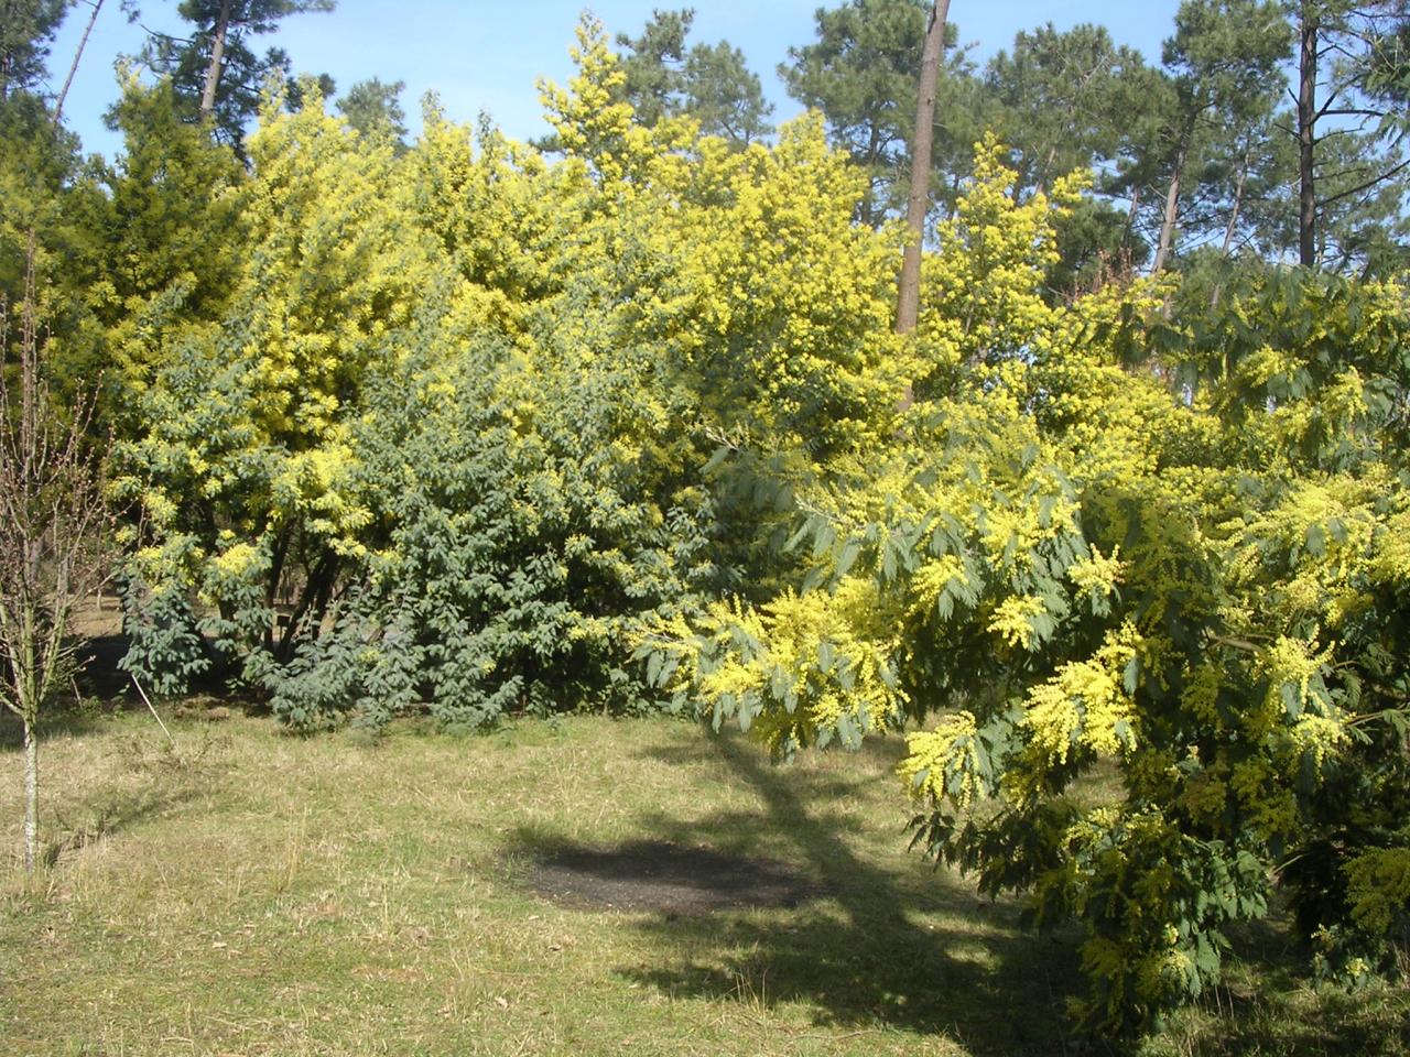
[[[976, 1057], [1066, 1051], [1065, 1001], [1080, 984], [1074, 944], [1018, 933], [1012, 903], [984, 902], [919, 857], [905, 860], [914, 868], [893, 868], [856, 851], [847, 839], [856, 824], [816, 805], [845, 802], [874, 777], [799, 777], [732, 737], [651, 755], [684, 767], [719, 760], [764, 803], [763, 813], [697, 822], [650, 815], [643, 829], [654, 844], [709, 850], [744, 871], [787, 863], [799, 898], [697, 912], [657, 906], [634, 926], [667, 957], [622, 975], [673, 996], [801, 1003], [815, 1025], [840, 1032], [943, 1033]], [[530, 848], [540, 863], [580, 853], [543, 837]], [[630, 867], [622, 853], [596, 850], [609, 870]]]

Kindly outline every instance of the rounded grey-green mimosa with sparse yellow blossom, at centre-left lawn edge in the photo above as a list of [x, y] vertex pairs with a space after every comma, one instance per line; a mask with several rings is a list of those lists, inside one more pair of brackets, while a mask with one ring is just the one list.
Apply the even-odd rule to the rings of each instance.
[[699, 497], [668, 492], [650, 354], [564, 307], [578, 321], [546, 316], [532, 344], [437, 321], [374, 385], [355, 448], [378, 545], [333, 633], [271, 676], [296, 726], [661, 705], [626, 644], [708, 574]]

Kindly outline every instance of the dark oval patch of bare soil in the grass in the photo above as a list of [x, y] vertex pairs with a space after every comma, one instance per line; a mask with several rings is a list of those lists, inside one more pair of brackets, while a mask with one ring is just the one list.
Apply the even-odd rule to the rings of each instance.
[[533, 886], [574, 906], [666, 913], [797, 906], [822, 894], [784, 863], [650, 840], [546, 853], [536, 863]]

